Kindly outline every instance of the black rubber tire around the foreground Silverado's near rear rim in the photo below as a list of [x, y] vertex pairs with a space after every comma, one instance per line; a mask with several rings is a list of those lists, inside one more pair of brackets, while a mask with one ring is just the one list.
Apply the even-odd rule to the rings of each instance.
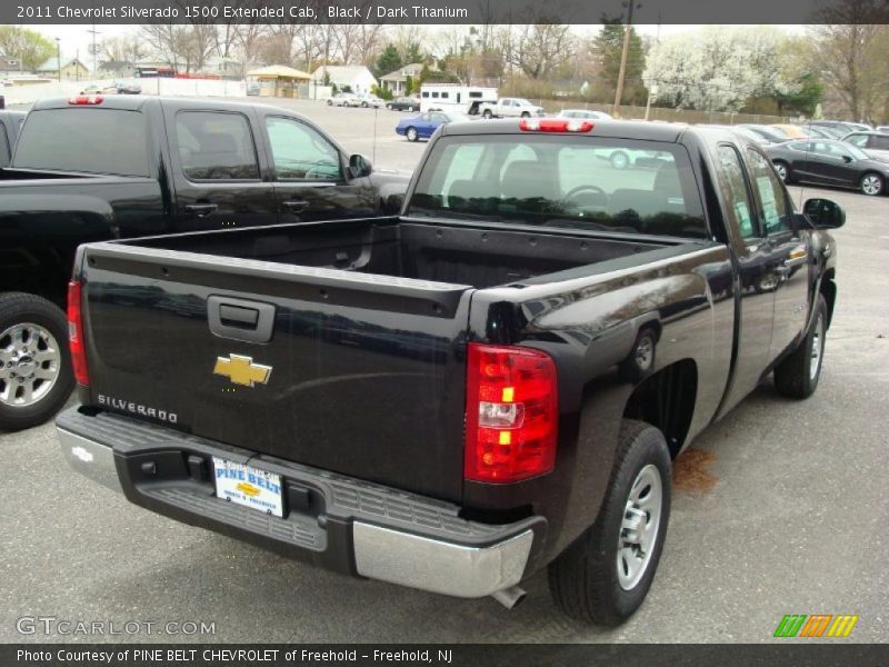
[[[638, 581], [625, 589], [618, 576], [618, 542], [629, 518], [627, 504], [632, 485], [649, 466], [660, 475], [661, 510], [647, 565]], [[549, 588], [561, 610], [583, 623], [617, 626], [642, 604], [663, 549], [670, 518], [670, 451], [657, 428], [625, 420], [617, 458], [599, 517], [583, 535], [549, 566]], [[642, 512], [646, 514], [646, 512]]]

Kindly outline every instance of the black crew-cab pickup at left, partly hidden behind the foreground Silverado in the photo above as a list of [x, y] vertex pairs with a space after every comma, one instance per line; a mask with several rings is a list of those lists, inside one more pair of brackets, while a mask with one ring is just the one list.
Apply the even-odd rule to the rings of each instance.
[[386, 202], [400, 205], [408, 181], [372, 171], [279, 107], [137, 96], [36, 103], [0, 170], [0, 429], [47, 420], [71, 392], [59, 306], [80, 243], [391, 213]]

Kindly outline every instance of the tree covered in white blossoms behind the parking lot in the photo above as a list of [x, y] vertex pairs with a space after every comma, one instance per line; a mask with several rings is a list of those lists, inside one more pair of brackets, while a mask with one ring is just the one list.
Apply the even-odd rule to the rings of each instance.
[[709, 26], [651, 46], [642, 80], [677, 109], [739, 111], [752, 96], [790, 92], [781, 76], [786, 34], [770, 26]]

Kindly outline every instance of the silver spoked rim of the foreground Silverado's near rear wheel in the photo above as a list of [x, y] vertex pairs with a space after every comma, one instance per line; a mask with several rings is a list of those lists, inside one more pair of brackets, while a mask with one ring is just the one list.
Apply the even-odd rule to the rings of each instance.
[[660, 470], [649, 464], [636, 476], [627, 502], [618, 537], [618, 583], [623, 590], [632, 590], [642, 579], [651, 563], [658, 540], [663, 485]]

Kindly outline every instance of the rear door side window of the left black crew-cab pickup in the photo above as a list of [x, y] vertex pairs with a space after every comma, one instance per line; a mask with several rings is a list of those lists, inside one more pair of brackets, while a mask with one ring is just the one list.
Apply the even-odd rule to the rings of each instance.
[[250, 125], [240, 113], [181, 111], [176, 116], [179, 161], [190, 180], [259, 179]]

